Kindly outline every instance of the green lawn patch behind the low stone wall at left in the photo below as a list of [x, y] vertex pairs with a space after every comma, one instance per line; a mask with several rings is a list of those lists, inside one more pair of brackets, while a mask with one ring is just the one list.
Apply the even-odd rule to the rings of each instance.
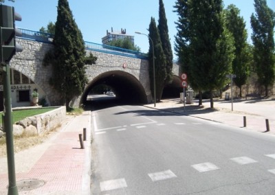
[[[36, 108], [36, 109], [25, 109], [25, 110], [12, 111], [13, 123], [19, 122], [21, 119], [25, 119], [26, 117], [32, 117], [34, 115], [47, 113], [54, 109], [56, 109], [56, 108]], [[0, 115], [3, 115], [3, 113], [0, 113]], [[0, 119], [0, 124], [2, 124], [1, 119]]]

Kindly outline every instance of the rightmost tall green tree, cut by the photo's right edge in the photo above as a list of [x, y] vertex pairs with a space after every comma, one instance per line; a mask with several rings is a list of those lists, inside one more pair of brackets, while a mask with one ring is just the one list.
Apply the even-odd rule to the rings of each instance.
[[266, 0], [254, 0], [256, 14], [251, 16], [252, 42], [254, 45], [254, 62], [259, 83], [265, 87], [265, 96], [268, 87], [274, 84], [274, 25], [275, 14], [267, 6]]

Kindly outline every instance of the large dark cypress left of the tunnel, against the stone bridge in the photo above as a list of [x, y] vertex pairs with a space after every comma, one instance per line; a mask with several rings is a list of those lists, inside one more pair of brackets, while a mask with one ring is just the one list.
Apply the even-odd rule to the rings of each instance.
[[85, 44], [74, 21], [67, 0], [58, 0], [55, 25], [54, 51], [51, 56], [53, 67], [50, 83], [61, 95], [61, 104], [69, 109], [69, 102], [85, 88]]

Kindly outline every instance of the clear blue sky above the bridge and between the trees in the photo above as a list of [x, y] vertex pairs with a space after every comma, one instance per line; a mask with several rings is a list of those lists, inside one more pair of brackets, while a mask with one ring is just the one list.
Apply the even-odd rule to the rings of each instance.
[[[175, 0], [163, 0], [163, 2], [169, 36], [174, 47], [174, 36], [177, 34], [175, 21], [178, 19], [177, 13], [173, 12]], [[231, 3], [241, 10], [241, 16], [246, 21], [250, 36], [252, 33], [250, 16], [254, 12], [254, 0], [223, 0], [225, 8]], [[42, 26], [47, 27], [50, 21], [56, 21], [58, 0], [15, 0], [15, 3], [5, 0], [3, 4], [14, 6], [16, 12], [21, 14], [22, 21], [17, 22], [18, 27], [39, 31]], [[267, 5], [275, 10], [274, 0], [267, 0]], [[113, 30], [120, 31], [122, 28], [126, 29], [127, 34], [135, 36], [135, 45], [139, 46], [142, 52], [148, 51], [148, 38], [135, 34], [135, 31], [148, 34], [151, 16], [158, 21], [158, 0], [69, 0], [69, 7], [85, 41], [101, 44], [101, 38], [106, 35], [107, 30], [111, 31], [113, 27]]]

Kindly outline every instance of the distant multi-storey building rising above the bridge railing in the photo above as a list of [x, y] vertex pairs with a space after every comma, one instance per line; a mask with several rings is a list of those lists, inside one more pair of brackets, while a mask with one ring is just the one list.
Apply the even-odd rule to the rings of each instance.
[[134, 36], [131, 36], [129, 34], [126, 34], [126, 29], [120, 30], [120, 32], [114, 32], [113, 27], [111, 27], [111, 32], [108, 32], [107, 30], [107, 35], [102, 38], [102, 44], [107, 45], [111, 41], [116, 41], [118, 39], [124, 39], [124, 38], [129, 38], [131, 43], [135, 45], [134, 41]]

